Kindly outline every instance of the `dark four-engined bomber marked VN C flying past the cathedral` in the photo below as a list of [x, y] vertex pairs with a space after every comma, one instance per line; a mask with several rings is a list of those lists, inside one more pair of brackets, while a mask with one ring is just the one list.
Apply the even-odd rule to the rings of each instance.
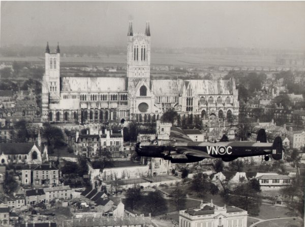
[[178, 127], [171, 127], [169, 140], [138, 142], [135, 149], [139, 156], [163, 158], [172, 163], [192, 163], [215, 158], [230, 162], [239, 157], [251, 156], [264, 156], [265, 161], [268, 161], [269, 155], [275, 160], [280, 160], [284, 152], [281, 137], [276, 137], [273, 143], [267, 143], [264, 129], [259, 130], [255, 142], [212, 143], [194, 142]]

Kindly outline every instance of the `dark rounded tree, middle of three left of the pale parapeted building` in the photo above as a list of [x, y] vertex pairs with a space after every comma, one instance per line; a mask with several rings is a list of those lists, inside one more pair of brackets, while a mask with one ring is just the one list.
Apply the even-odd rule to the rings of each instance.
[[145, 198], [145, 208], [153, 215], [164, 214], [167, 206], [163, 198], [163, 193], [157, 190], [155, 192], [149, 192]]

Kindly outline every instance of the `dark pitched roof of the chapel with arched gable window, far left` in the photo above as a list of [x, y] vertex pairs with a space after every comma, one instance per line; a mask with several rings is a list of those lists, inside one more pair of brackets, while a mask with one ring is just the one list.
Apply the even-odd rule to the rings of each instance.
[[34, 143], [0, 143], [0, 153], [5, 155], [27, 155]]

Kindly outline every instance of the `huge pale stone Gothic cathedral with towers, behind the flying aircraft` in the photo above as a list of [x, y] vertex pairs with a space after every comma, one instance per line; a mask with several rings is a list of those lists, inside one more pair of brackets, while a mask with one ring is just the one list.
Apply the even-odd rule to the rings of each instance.
[[238, 116], [234, 80], [154, 80], [150, 78], [150, 28], [134, 33], [129, 23], [125, 78], [60, 76], [60, 49], [45, 51], [43, 121], [88, 124], [156, 122], [167, 110], [181, 117]]

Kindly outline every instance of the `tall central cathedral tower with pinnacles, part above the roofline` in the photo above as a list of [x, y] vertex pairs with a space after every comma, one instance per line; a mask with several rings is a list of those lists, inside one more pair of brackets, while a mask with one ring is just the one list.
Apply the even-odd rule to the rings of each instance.
[[133, 33], [129, 23], [127, 45], [128, 87], [135, 88], [139, 81], [149, 84], [150, 80], [150, 28], [146, 22], [145, 33]]

